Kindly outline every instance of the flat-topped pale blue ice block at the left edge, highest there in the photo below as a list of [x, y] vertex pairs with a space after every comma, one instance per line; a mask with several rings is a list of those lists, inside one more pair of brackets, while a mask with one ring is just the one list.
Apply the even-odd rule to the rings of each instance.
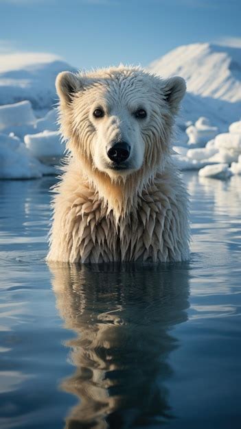
[[36, 117], [30, 101], [0, 106], [0, 131], [19, 125], [34, 125]]

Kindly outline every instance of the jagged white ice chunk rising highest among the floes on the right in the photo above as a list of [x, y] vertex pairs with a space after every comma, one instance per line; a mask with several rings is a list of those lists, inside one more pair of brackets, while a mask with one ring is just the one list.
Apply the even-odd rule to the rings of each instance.
[[204, 147], [208, 140], [214, 138], [218, 134], [218, 127], [211, 125], [209, 119], [200, 117], [195, 125], [190, 125], [186, 130], [189, 140], [187, 145], [195, 147]]

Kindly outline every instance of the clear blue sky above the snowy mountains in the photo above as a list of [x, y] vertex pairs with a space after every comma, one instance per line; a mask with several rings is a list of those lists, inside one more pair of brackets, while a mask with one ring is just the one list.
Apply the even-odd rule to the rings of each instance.
[[55, 53], [73, 66], [141, 64], [179, 45], [241, 47], [240, 0], [0, 0], [0, 51]]

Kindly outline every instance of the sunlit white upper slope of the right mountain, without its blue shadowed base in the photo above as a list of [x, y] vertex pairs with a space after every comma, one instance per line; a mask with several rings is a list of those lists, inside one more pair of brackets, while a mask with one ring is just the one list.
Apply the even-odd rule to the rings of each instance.
[[241, 101], [241, 48], [196, 43], [180, 46], [150, 64], [158, 75], [180, 75], [203, 97]]

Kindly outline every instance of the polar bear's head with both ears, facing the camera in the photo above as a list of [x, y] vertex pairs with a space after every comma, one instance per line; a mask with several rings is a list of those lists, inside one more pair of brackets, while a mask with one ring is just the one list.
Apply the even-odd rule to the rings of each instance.
[[185, 94], [181, 77], [161, 79], [119, 66], [56, 79], [60, 123], [69, 149], [89, 171], [111, 180], [142, 171], [147, 177], [170, 153], [174, 115]]

